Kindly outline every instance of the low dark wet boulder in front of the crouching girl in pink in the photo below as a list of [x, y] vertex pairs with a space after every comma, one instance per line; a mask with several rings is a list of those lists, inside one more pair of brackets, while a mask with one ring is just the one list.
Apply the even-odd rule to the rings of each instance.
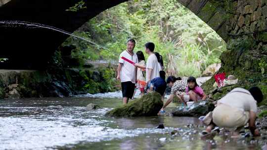
[[199, 101], [192, 104], [190, 107], [178, 107], [177, 109], [174, 109], [172, 113], [174, 116], [199, 117], [213, 111], [214, 108], [214, 104], [210, 101]]

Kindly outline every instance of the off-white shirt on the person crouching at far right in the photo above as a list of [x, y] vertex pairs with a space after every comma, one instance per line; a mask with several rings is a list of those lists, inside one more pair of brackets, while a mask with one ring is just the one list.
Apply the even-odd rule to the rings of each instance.
[[246, 89], [237, 87], [226, 94], [219, 103], [238, 108], [244, 112], [257, 112], [257, 101]]

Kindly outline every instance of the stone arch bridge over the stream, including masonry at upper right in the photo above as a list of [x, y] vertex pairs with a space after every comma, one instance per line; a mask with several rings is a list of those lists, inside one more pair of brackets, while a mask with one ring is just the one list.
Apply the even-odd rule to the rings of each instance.
[[[0, 0], [0, 58], [9, 58], [1, 68], [41, 69], [49, 56], [68, 37], [47, 29], [29, 29], [5, 21], [25, 21], [74, 32], [107, 8], [127, 0], [84, 0], [87, 8], [66, 11], [80, 0]], [[250, 2], [255, 1], [255, 2]], [[257, 20], [266, 20], [266, 0], [177, 0], [213, 28], [225, 41], [228, 33], [255, 31]], [[261, 9], [261, 10], [260, 10]], [[249, 15], [249, 17], [248, 17]], [[2, 63], [3, 64], [3, 63]], [[0, 65], [2, 65], [0, 64]]]

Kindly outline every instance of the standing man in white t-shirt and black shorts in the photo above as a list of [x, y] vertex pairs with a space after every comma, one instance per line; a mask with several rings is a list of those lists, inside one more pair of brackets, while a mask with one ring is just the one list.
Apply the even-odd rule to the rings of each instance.
[[134, 53], [134, 46], [134, 39], [129, 39], [127, 42], [127, 50], [124, 50], [119, 58], [117, 79], [121, 80], [122, 84], [123, 104], [127, 104], [129, 98], [133, 97], [134, 85], [137, 82], [137, 68], [134, 67], [134, 64], [122, 59], [122, 57], [134, 63], [138, 63], [137, 55]]

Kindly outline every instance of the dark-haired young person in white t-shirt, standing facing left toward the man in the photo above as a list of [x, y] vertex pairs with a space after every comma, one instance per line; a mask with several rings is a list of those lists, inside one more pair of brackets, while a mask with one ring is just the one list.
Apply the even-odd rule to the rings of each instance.
[[149, 55], [146, 62], [146, 83], [149, 84], [150, 80], [159, 77], [158, 59], [154, 54], [155, 44], [147, 42], [145, 44], [145, 52]]

